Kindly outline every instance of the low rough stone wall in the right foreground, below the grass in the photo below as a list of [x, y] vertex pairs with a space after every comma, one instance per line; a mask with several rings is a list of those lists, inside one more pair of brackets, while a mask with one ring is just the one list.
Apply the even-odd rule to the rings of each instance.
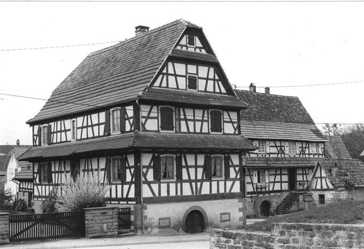
[[211, 230], [210, 249], [364, 248], [364, 225], [273, 223], [271, 233]]

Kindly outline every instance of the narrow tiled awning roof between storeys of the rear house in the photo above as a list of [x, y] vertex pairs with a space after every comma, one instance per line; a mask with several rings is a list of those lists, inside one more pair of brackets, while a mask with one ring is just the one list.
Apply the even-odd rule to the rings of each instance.
[[247, 157], [249, 168], [301, 168], [315, 167], [317, 158], [302, 157]]

